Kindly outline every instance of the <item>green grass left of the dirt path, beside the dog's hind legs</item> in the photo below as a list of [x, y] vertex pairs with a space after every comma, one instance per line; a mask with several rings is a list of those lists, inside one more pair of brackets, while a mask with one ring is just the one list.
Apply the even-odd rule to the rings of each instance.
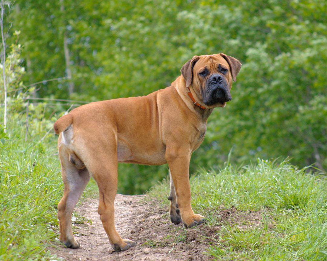
[[[58, 136], [46, 134], [53, 120], [34, 118], [25, 142], [24, 117], [9, 117], [7, 135], [0, 126], [0, 260], [50, 260], [46, 248], [58, 242], [63, 193]], [[95, 196], [95, 186], [91, 183], [83, 197]]]

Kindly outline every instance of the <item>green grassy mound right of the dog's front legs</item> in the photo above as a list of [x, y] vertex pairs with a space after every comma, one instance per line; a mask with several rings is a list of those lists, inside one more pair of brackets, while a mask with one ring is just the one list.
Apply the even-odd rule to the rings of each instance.
[[[149, 198], [166, 203], [168, 181]], [[216, 260], [327, 260], [327, 182], [288, 161], [258, 159], [252, 166], [202, 171], [191, 178], [192, 206], [220, 225], [219, 238], [208, 248]], [[221, 223], [219, 209], [261, 211], [262, 225], [240, 229]], [[270, 224], [270, 225], [269, 225]]]

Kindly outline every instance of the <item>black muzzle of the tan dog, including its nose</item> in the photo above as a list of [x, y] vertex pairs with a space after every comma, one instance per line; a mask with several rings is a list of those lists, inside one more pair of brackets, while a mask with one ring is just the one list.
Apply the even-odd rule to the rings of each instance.
[[208, 78], [206, 91], [203, 98], [206, 105], [225, 103], [232, 100], [227, 82], [221, 74], [215, 73]]

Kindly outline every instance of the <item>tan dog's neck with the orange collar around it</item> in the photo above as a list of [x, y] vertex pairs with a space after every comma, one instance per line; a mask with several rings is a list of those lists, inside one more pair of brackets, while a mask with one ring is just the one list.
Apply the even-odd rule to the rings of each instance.
[[[179, 76], [175, 82], [178, 82], [178, 84], [172, 84], [175, 86], [179, 96], [184, 101], [186, 106], [194, 113], [199, 115], [203, 121], [207, 121], [210, 114], [213, 112], [213, 108], [211, 109], [202, 109], [199, 106], [194, 104], [194, 101], [191, 100], [191, 97], [187, 94], [189, 92], [189, 89], [186, 87], [186, 81], [183, 78], [183, 76]], [[194, 96], [194, 95], [193, 95]], [[195, 98], [195, 97], [194, 97]], [[196, 98], [195, 98], [196, 99]]]

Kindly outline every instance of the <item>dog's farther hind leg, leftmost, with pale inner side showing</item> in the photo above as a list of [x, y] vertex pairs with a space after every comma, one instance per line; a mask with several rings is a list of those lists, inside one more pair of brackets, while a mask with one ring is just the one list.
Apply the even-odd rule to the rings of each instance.
[[69, 161], [69, 154], [64, 146], [59, 147], [61, 175], [64, 182], [64, 194], [58, 204], [58, 219], [60, 226], [60, 241], [69, 248], [78, 248], [72, 231], [72, 213], [85, 186], [90, 180], [86, 168], [77, 169]]

